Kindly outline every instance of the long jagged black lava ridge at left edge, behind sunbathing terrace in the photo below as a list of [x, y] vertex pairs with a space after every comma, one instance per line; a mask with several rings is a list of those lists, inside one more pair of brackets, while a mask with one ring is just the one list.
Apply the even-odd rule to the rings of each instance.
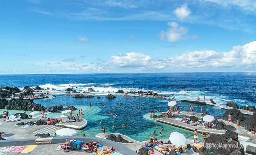
[[[4, 100], [0, 100], [0, 101], [4, 101]], [[4, 108], [2, 108], [2, 106], [5, 105]], [[32, 108], [34, 108], [34, 110], [45, 110], [44, 106], [41, 106], [39, 104], [35, 104], [33, 102], [33, 100], [23, 100], [22, 97], [20, 97], [19, 99], [11, 99], [7, 102], [4, 101], [4, 104], [2, 103], [0, 105], [0, 108], [2, 109], [8, 109], [8, 110], [32, 110]]]

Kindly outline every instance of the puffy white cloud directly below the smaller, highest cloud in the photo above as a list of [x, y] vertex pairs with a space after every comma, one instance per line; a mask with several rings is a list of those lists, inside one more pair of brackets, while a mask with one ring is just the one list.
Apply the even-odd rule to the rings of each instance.
[[185, 36], [185, 34], [189, 32], [188, 27], [179, 26], [176, 22], [168, 22], [167, 25], [170, 27], [167, 28], [167, 31], [162, 30], [160, 32], [158, 35], [159, 40], [168, 40], [169, 42], [177, 43], [180, 42], [180, 40], [198, 38], [196, 35]]

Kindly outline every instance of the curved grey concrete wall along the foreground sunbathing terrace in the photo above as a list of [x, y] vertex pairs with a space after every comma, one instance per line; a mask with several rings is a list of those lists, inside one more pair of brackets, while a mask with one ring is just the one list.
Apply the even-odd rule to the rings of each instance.
[[[67, 137], [70, 140], [77, 140], [77, 141], [83, 141], [83, 143], [85, 142], [98, 142], [100, 141], [101, 144], [103, 144], [104, 146], [112, 146], [113, 149], [115, 149], [116, 151], [120, 152], [122, 155], [138, 155], [137, 153], [135, 153], [135, 150], [130, 150], [129, 148], [127, 148], [126, 146], [114, 142], [114, 141], [110, 141], [110, 140], [106, 140], [106, 139], [102, 139], [102, 138], [98, 138], [98, 137], [75, 137], [75, 136], [71, 136], [71, 137]], [[59, 143], [65, 143], [66, 142], [66, 137], [53, 137], [52, 139], [52, 144], [59, 144]], [[2, 140], [0, 141], [0, 147], [3, 146], [23, 146], [23, 145], [35, 145], [35, 139], [24, 139], [24, 140]], [[44, 144], [39, 144], [39, 145], [44, 145]]]

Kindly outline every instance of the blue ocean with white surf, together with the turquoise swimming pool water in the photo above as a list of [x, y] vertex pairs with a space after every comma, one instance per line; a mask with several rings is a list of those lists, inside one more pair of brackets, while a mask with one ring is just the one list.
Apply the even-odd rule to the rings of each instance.
[[[88, 83], [88, 85], [86, 84]], [[225, 105], [225, 101], [234, 101], [238, 106], [249, 104], [256, 106], [256, 72], [221, 72], [221, 73], [143, 73], [143, 74], [36, 74], [36, 75], [0, 75], [0, 86], [24, 86], [35, 87], [39, 85], [49, 88], [51, 93], [62, 92], [73, 87], [76, 91], [87, 91], [93, 88], [94, 93], [123, 91], [154, 91], [163, 96], [176, 97], [179, 99], [196, 99], [206, 95], [206, 99], [213, 99], [220, 105]], [[56, 89], [52, 91], [52, 89]], [[187, 91], [191, 90], [191, 91]], [[45, 90], [46, 91], [46, 90]], [[87, 91], [88, 92], [88, 91]], [[117, 94], [117, 93], [112, 93]], [[56, 95], [56, 94], [55, 94]], [[53, 99], [34, 100], [47, 108], [51, 106], [74, 106], [83, 110], [83, 118], [88, 121], [88, 126], [78, 131], [77, 136], [95, 136], [101, 132], [103, 126], [106, 133], [121, 133], [137, 141], [148, 140], [149, 136], [154, 136], [160, 132], [162, 136], [156, 135], [157, 139], [168, 139], [171, 132], [180, 132], [187, 139], [193, 139], [193, 132], [177, 127], [162, 124], [149, 120], [149, 111], [157, 113], [167, 111], [166, 99], [158, 97], [130, 97], [116, 96], [115, 99], [106, 99], [106, 95], [94, 95], [94, 98], [75, 99], [72, 95], [56, 95]], [[97, 96], [102, 97], [97, 99]], [[89, 107], [92, 103], [92, 107]], [[105, 107], [101, 105], [103, 103]], [[121, 105], [119, 105], [119, 103]], [[189, 111], [191, 103], [177, 101], [182, 111]], [[195, 105], [200, 106], [200, 105]], [[155, 110], [154, 110], [155, 108]], [[201, 108], [194, 111], [200, 113]], [[213, 116], [222, 116], [225, 110], [213, 106], [203, 106]], [[4, 109], [0, 110], [2, 113]], [[9, 115], [16, 113], [11, 110]], [[106, 113], [111, 113], [106, 115]], [[27, 112], [29, 113], [29, 112]], [[78, 113], [75, 110], [73, 114]], [[112, 115], [117, 114], [116, 117]], [[48, 117], [57, 117], [59, 113], [50, 113]], [[103, 123], [100, 123], [100, 121]], [[125, 123], [127, 127], [121, 127]], [[112, 128], [113, 125], [116, 128]], [[155, 128], [155, 126], [159, 128]], [[162, 131], [160, 127], [163, 127]], [[202, 141], [202, 140], [199, 140]]]

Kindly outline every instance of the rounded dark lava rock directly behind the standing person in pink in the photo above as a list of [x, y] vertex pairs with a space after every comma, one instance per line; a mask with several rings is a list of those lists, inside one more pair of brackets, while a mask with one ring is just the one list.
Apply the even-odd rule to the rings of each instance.
[[242, 123], [244, 121], [244, 116], [243, 114], [240, 112], [240, 110], [237, 110], [237, 109], [229, 109], [227, 110], [223, 116], [221, 116], [221, 119], [222, 120], [226, 120], [228, 121], [228, 115], [231, 115], [231, 121], [232, 123], [235, 123], [237, 122], [237, 120]]

